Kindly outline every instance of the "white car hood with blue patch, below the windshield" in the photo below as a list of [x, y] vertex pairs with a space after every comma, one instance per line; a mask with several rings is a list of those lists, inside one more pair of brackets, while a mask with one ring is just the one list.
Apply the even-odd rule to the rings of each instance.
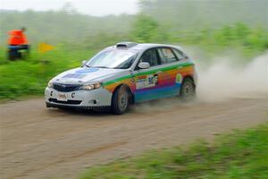
[[111, 77], [122, 71], [124, 70], [80, 67], [62, 72], [54, 77], [53, 81], [63, 84], [81, 84], [85, 82], [104, 81], [105, 78]]

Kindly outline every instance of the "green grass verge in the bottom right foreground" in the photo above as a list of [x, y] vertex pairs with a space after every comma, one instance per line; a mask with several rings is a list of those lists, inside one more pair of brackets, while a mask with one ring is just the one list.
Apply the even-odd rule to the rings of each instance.
[[268, 124], [89, 168], [80, 179], [268, 178]]

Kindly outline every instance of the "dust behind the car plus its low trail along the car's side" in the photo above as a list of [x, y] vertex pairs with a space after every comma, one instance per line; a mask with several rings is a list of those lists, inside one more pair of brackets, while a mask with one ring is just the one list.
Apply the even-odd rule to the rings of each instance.
[[[166, 111], [222, 102], [231, 98], [268, 98], [268, 51], [247, 64], [238, 64], [236, 55], [215, 57], [210, 62], [197, 60], [197, 98], [191, 102], [164, 98], [131, 107], [136, 112]], [[241, 61], [239, 61], [241, 62]]]

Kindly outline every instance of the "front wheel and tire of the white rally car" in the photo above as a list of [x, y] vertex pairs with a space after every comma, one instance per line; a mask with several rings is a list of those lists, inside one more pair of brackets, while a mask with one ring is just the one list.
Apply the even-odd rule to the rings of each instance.
[[130, 94], [127, 87], [121, 85], [113, 92], [112, 112], [114, 115], [123, 114], [130, 106]]

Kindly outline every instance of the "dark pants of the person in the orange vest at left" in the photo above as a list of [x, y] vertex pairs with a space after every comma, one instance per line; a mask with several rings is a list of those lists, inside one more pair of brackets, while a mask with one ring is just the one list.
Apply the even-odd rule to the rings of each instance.
[[29, 45], [20, 45], [20, 46], [9, 45], [8, 59], [9, 60], [21, 59], [23, 57], [22, 51], [25, 51], [27, 55], [29, 55]]

